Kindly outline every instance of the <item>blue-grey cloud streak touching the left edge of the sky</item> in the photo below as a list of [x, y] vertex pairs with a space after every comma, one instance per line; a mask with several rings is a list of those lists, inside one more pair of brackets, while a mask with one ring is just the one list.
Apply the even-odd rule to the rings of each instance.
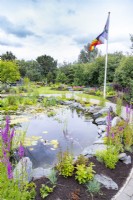
[[8, 18], [4, 16], [0, 16], [0, 27], [6, 33], [16, 35], [20, 38], [25, 38], [27, 36], [34, 35], [33, 32], [27, 30], [24, 26], [14, 25], [12, 22], [8, 20]]

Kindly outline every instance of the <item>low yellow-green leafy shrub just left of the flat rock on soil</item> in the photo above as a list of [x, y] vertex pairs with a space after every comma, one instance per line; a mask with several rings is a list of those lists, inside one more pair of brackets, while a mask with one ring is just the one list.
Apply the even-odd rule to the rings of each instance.
[[86, 167], [84, 164], [77, 165], [75, 178], [79, 181], [80, 184], [87, 183], [94, 178], [94, 166], [95, 165], [92, 162], [89, 164], [88, 167]]

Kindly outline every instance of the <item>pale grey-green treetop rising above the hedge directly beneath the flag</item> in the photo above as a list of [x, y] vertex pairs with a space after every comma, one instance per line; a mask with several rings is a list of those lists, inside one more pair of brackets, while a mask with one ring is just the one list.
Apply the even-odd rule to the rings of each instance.
[[98, 49], [95, 48], [93, 51], [89, 51], [90, 43], [80, 51], [78, 62], [79, 63], [88, 63], [93, 62], [98, 55]]

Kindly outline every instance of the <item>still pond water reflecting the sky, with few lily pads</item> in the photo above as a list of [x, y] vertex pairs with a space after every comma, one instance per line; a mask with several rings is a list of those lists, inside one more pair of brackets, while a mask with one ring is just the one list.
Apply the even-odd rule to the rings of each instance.
[[54, 165], [60, 149], [68, 148], [74, 156], [79, 155], [97, 137], [97, 126], [90, 116], [69, 107], [59, 108], [51, 117], [47, 114], [30, 116], [21, 126], [27, 129], [26, 155], [33, 162], [33, 168]]

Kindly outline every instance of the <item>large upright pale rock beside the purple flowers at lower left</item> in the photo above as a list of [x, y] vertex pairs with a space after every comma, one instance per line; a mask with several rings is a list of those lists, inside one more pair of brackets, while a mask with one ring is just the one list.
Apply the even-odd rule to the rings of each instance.
[[32, 180], [32, 162], [28, 157], [23, 157], [16, 165], [13, 171], [14, 179], [20, 180], [23, 177], [24, 181]]

